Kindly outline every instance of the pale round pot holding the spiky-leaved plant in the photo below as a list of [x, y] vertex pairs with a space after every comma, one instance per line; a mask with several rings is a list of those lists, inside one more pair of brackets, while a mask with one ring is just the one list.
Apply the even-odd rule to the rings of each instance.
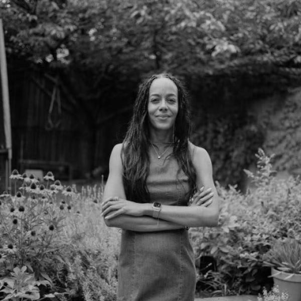
[[271, 276], [279, 291], [289, 294], [289, 301], [301, 301], [301, 274], [291, 274], [271, 268]]

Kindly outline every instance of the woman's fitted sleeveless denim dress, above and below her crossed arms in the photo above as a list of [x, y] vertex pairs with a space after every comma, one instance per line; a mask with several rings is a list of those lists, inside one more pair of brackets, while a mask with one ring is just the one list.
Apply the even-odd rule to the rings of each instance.
[[[146, 185], [150, 202], [187, 206], [188, 178], [173, 156], [158, 160], [149, 152]], [[160, 218], [160, 215], [159, 215]], [[159, 221], [160, 223], [160, 221]], [[122, 230], [118, 261], [118, 301], [193, 301], [196, 289], [193, 249], [186, 229]]]

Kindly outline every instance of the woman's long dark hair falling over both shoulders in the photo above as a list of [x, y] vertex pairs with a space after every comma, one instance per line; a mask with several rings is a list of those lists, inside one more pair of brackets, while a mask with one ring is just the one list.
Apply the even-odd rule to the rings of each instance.
[[196, 172], [192, 164], [188, 148], [188, 139], [191, 132], [190, 110], [187, 92], [182, 83], [170, 74], [155, 74], [142, 81], [133, 107], [130, 120], [121, 149], [123, 164], [123, 184], [128, 200], [137, 203], [148, 203], [149, 192], [146, 187], [146, 178], [149, 174], [149, 128], [147, 104], [149, 88], [157, 78], [169, 78], [178, 88], [178, 114], [174, 126], [173, 154], [179, 164], [179, 175], [182, 170], [189, 179], [189, 195], [196, 187]]

